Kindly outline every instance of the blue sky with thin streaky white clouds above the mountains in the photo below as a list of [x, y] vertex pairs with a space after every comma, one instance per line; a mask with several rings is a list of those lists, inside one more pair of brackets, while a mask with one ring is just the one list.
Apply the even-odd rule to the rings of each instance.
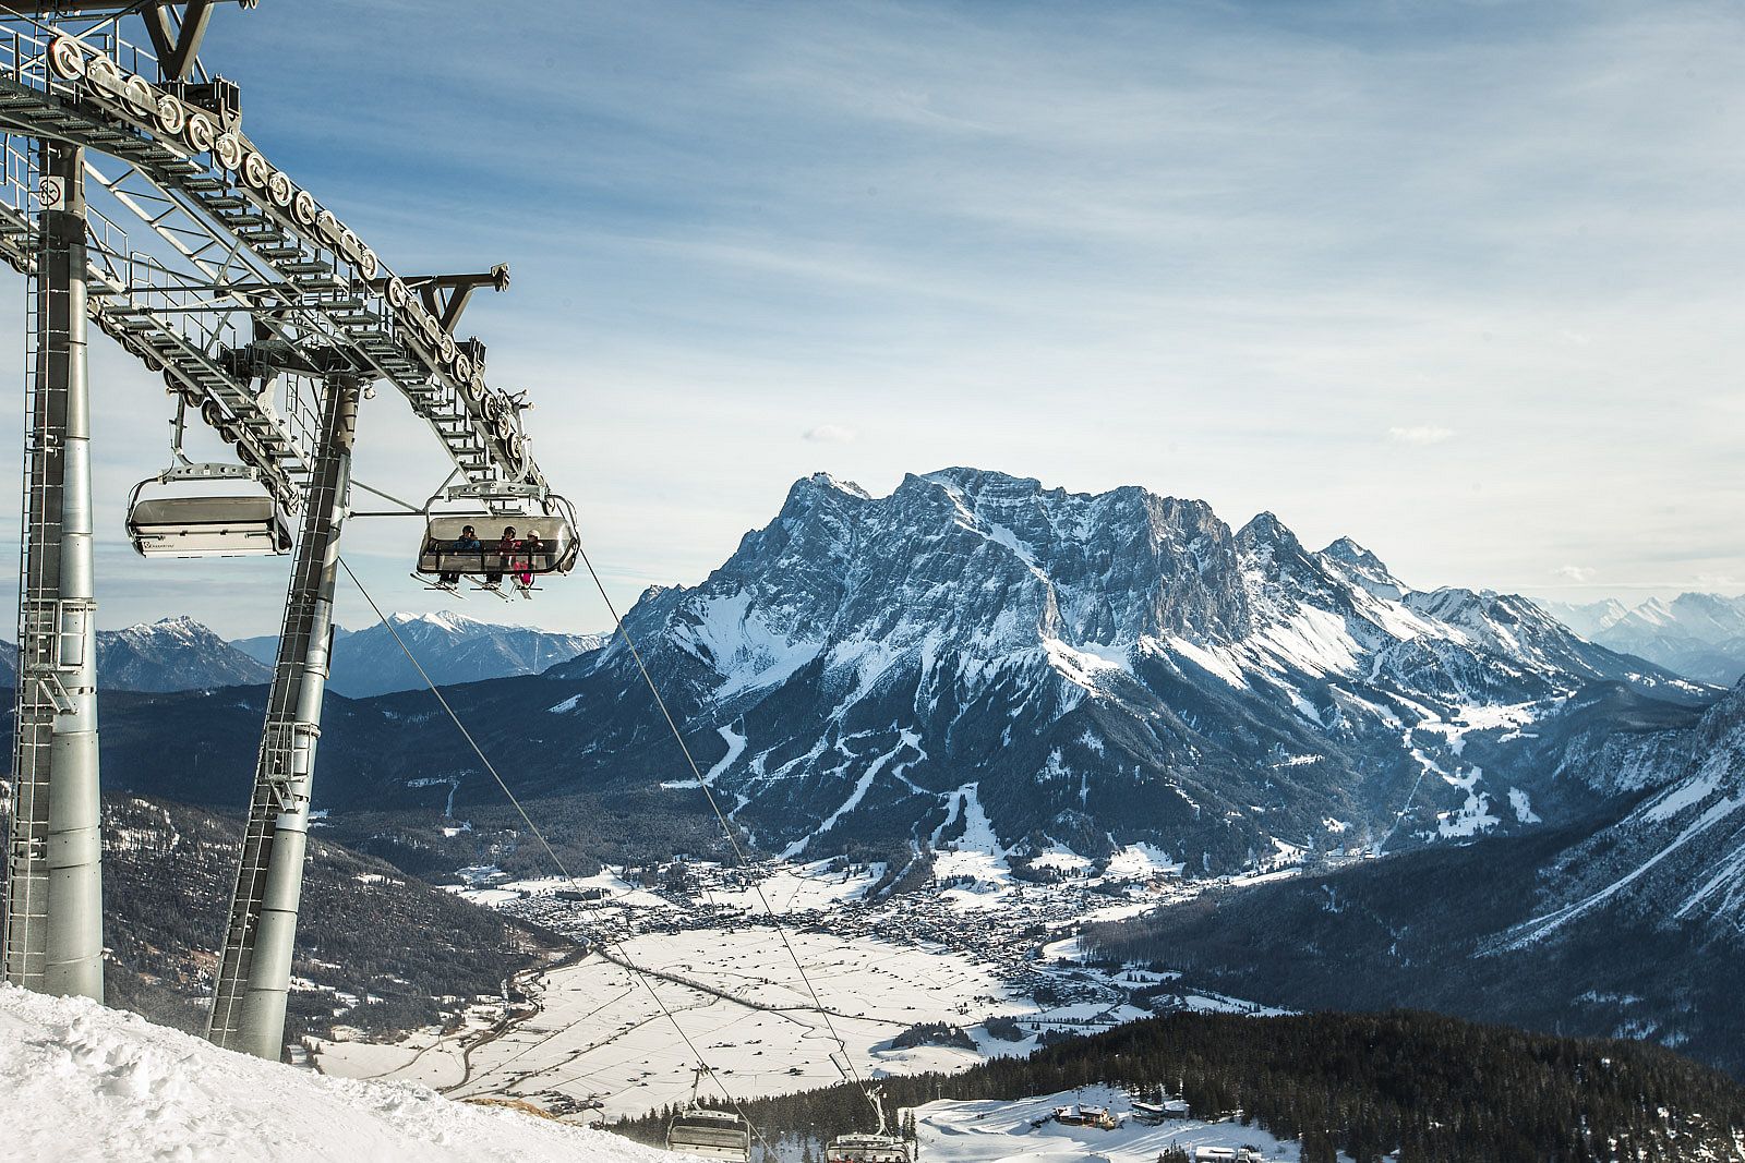
[[[1745, 591], [1742, 47], [1740, 3], [267, 0], [202, 59], [393, 269], [510, 263], [461, 330], [619, 609], [799, 476], [955, 464], [1635, 603]], [[169, 411], [106, 340], [92, 384], [101, 624], [276, 629], [288, 560], [131, 554]], [[445, 464], [365, 405], [361, 479]], [[346, 556], [454, 607], [417, 539]], [[609, 622], [579, 574], [459, 609]]]

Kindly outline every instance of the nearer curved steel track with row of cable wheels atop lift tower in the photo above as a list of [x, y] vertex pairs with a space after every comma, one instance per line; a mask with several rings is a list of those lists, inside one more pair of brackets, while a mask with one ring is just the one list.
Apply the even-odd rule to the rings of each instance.
[[[124, 59], [148, 59], [131, 45], [115, 47]], [[281, 319], [344, 347], [366, 378], [393, 382], [468, 481], [544, 490], [544, 473], [527, 455], [520, 410], [485, 382], [473, 359], [480, 349], [457, 343], [356, 232], [241, 129], [222, 129], [215, 117], [124, 73], [86, 40], [35, 28], [16, 30], [10, 44], [0, 40], [0, 124], [126, 162], [180, 214], [168, 230], [141, 213], [148, 225], [166, 241], [204, 235], [218, 242], [195, 248], [222, 260], [213, 275], [246, 272], [246, 282], [272, 284]]]

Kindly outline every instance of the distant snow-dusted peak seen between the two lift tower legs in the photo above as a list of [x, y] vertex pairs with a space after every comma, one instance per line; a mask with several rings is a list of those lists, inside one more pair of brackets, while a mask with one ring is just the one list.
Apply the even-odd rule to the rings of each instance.
[[[98, 685], [108, 690], [204, 690], [267, 682], [272, 668], [192, 617], [98, 631]], [[0, 643], [0, 682], [17, 680], [17, 645]]]

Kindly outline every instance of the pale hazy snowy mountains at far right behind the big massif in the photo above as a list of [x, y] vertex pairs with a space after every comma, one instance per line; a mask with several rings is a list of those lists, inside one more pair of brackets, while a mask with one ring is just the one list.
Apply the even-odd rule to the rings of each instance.
[[1642, 605], [1595, 602], [1544, 609], [1583, 638], [1621, 654], [1635, 654], [1670, 671], [1733, 685], [1745, 675], [1745, 595], [1682, 593], [1672, 602]]

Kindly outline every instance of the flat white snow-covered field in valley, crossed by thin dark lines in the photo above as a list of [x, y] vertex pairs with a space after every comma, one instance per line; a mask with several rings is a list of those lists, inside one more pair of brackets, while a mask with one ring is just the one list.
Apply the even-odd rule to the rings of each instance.
[[[646, 983], [602, 954], [541, 976], [534, 985], [539, 1013], [475, 1046], [471, 1078], [464, 1032], [426, 1032], [400, 1046], [319, 1043], [318, 1062], [330, 1074], [407, 1078], [454, 1086], [454, 1095], [503, 1093], [543, 1104], [565, 1095], [599, 1100], [607, 1114], [642, 1114], [689, 1093], [695, 1058], [674, 1024], [736, 1098], [841, 1081], [831, 1064], [838, 1036], [855, 1067], [874, 1074], [963, 1069], [1035, 1046], [1035, 1037], [1002, 1043], [972, 1029], [991, 1015], [1033, 1017], [1038, 1008], [963, 954], [813, 931], [789, 933], [789, 940], [824, 1013], [770, 928], [646, 933], [619, 947], [644, 969]], [[1115, 1017], [1131, 1020], [1139, 1011]], [[890, 1046], [923, 1022], [960, 1025], [977, 1048]]]

